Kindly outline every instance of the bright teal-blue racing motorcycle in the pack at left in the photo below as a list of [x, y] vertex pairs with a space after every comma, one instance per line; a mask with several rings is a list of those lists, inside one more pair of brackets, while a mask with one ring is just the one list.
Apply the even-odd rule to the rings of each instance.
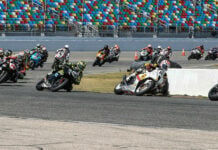
[[29, 62], [29, 67], [34, 70], [35, 68], [43, 66], [42, 62], [42, 54], [39, 52], [34, 52], [33, 54], [30, 55], [30, 62]]

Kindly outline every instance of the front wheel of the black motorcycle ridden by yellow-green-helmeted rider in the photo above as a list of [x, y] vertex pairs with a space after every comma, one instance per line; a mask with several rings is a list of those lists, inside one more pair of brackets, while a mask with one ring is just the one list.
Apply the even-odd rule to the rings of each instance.
[[69, 82], [69, 79], [67, 79], [67, 78], [56, 79], [52, 83], [50, 90], [52, 92], [57, 92], [58, 90], [63, 89], [68, 82]]

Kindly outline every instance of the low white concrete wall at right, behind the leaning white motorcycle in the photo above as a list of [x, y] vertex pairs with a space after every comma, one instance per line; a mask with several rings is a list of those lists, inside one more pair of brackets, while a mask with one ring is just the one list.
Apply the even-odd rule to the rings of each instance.
[[217, 69], [169, 69], [171, 95], [208, 96], [209, 90], [218, 83]]

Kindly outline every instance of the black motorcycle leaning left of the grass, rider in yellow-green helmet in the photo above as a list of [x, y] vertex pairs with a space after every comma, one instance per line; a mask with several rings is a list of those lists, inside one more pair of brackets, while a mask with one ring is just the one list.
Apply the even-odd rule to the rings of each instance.
[[[80, 76], [82, 76], [82, 72], [80, 72]], [[65, 89], [70, 92], [73, 89], [74, 83], [75, 76], [73, 75], [72, 70], [65, 66], [62, 70], [46, 75], [44, 79], [36, 84], [36, 89], [38, 91], [49, 89], [52, 92]]]

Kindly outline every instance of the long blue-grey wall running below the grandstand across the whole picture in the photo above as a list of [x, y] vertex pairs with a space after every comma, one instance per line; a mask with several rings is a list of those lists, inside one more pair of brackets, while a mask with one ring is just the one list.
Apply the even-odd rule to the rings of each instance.
[[218, 46], [218, 38], [189, 39], [189, 38], [75, 38], [75, 37], [0, 37], [0, 47], [12, 50], [31, 49], [37, 43], [45, 45], [48, 50], [57, 50], [65, 44], [70, 46], [71, 51], [97, 51], [105, 44], [112, 46], [119, 44], [121, 50], [135, 51], [148, 44], [154, 47], [171, 46], [173, 50], [190, 50], [193, 47], [204, 45], [206, 49]]

